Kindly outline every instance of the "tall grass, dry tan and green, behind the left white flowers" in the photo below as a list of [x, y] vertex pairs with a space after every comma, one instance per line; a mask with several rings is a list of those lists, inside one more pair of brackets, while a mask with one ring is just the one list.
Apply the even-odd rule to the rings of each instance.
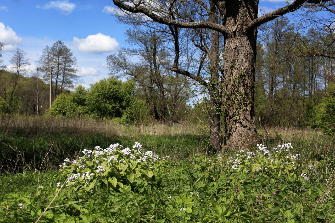
[[208, 145], [208, 136], [192, 124], [134, 126], [110, 119], [3, 115], [0, 173], [39, 169], [44, 159], [43, 169], [55, 169], [64, 158], [76, 156], [83, 148], [97, 145], [106, 148], [114, 143], [129, 147], [136, 141], [157, 154], [175, 154], [183, 159], [192, 153], [202, 153]]

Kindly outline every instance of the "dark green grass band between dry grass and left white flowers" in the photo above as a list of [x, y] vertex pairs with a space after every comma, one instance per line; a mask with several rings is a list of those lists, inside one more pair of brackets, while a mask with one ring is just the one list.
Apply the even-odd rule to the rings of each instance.
[[199, 135], [27, 135], [0, 134], [0, 174], [55, 169], [65, 158], [74, 158], [84, 148], [96, 145], [108, 147], [111, 143], [131, 146], [142, 142], [156, 154], [171, 154], [183, 159], [193, 153], [206, 152], [208, 137]]

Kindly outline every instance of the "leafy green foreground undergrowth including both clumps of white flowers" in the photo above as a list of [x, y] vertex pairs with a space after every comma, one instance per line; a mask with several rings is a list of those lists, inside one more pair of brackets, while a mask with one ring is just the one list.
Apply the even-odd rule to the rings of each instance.
[[335, 221], [332, 156], [284, 144], [179, 159], [131, 145], [0, 176], [0, 222]]

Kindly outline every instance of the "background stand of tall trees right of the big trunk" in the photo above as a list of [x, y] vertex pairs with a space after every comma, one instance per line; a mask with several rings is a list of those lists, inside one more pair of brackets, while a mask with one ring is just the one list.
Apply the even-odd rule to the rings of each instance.
[[286, 17], [259, 28], [257, 124], [322, 128], [334, 133], [334, 34], [314, 28], [306, 33], [297, 30]]

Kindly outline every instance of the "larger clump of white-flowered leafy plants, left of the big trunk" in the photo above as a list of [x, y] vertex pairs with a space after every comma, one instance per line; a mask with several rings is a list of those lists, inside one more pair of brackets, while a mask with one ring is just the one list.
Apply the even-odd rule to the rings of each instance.
[[157, 162], [166, 162], [169, 156], [155, 155], [152, 151], [142, 152], [142, 145], [135, 142], [132, 149], [123, 149], [120, 144], [111, 144], [102, 149], [84, 149], [83, 156], [60, 165], [60, 171], [67, 179], [58, 188], [73, 187], [74, 190], [92, 191], [98, 183], [107, 189], [129, 189], [139, 184], [147, 185], [155, 180], [158, 173]]

